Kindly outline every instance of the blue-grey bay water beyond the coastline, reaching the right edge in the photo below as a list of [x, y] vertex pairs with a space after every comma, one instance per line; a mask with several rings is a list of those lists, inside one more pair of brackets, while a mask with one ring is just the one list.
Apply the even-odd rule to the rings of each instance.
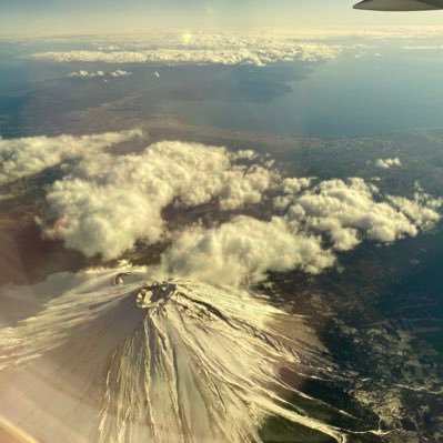
[[[321, 63], [225, 70], [248, 100], [183, 100], [168, 107], [194, 124], [263, 133], [354, 137], [443, 125], [443, 58], [390, 50]], [[286, 89], [283, 89], [285, 85]], [[223, 88], [223, 83], [220, 82]]]

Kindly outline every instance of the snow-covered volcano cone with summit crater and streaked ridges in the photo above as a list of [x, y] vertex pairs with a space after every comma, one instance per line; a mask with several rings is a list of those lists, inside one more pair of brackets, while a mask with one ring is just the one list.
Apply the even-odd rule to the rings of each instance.
[[345, 441], [285, 401], [320, 403], [283, 368], [332, 376], [303, 320], [246, 291], [117, 272], [56, 274], [61, 295], [0, 330], [0, 416], [44, 442], [259, 442], [272, 414]]

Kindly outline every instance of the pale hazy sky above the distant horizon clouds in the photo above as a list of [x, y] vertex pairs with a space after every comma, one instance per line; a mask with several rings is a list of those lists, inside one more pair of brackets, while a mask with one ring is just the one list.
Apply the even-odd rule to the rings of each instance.
[[356, 0], [11, 0], [0, 33], [119, 33], [152, 29], [356, 28], [441, 24], [443, 12], [381, 13]]

